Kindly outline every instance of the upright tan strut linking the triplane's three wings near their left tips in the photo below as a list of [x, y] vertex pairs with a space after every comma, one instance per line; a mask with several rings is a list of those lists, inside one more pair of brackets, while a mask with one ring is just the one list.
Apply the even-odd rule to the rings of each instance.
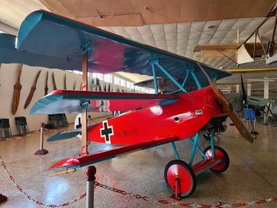
[[[82, 91], [87, 91], [87, 46], [89, 43], [82, 46]], [[87, 105], [82, 104], [82, 149], [80, 156], [86, 156], [87, 152]]]

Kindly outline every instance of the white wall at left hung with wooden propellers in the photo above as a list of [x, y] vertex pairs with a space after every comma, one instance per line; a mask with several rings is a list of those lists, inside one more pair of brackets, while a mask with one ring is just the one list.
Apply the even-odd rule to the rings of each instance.
[[[33, 85], [35, 76], [39, 70], [39, 79], [37, 80], [37, 89], [33, 95], [32, 101], [26, 109], [24, 109], [24, 103], [30, 92], [30, 87]], [[25, 116], [27, 119], [28, 127], [30, 130], [37, 130], [40, 123], [48, 123], [47, 115], [34, 115], [30, 116], [30, 108], [33, 106], [35, 101], [44, 96], [45, 78], [46, 71], [48, 71], [48, 93], [53, 91], [52, 83], [52, 73], [55, 73], [55, 83], [57, 89], [63, 89], [64, 87], [64, 73], [66, 73], [66, 89], [73, 89], [73, 83], [76, 80], [76, 90], [80, 90], [80, 85], [82, 83], [82, 77], [78, 74], [71, 73], [68, 71], [63, 71], [59, 69], [46, 69], [42, 67], [29, 67], [23, 65], [20, 83], [22, 85], [19, 106], [17, 108], [17, 113], [12, 115], [12, 94], [13, 86], [17, 81], [17, 76], [19, 73], [18, 64], [1, 64], [0, 68], [0, 118], [10, 119], [10, 128], [12, 130], [12, 135], [17, 135], [17, 129], [15, 126], [16, 116]], [[93, 113], [93, 117], [103, 116], [104, 113]], [[74, 122], [76, 114], [66, 114], [69, 123]]]

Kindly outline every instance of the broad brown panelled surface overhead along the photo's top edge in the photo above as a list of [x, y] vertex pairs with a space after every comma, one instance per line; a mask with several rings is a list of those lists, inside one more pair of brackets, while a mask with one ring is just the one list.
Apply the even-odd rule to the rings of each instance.
[[93, 26], [142, 26], [265, 17], [276, 3], [275, 0], [41, 0], [41, 2], [53, 12]]

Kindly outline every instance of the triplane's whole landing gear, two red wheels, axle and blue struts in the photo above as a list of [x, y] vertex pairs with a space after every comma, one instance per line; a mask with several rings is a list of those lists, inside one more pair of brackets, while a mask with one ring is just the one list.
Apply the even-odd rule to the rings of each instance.
[[[170, 161], [164, 171], [166, 185], [174, 193], [172, 198], [179, 199], [190, 196], [195, 191], [197, 175], [208, 170], [214, 173], [222, 173], [229, 167], [228, 154], [224, 149], [214, 145], [213, 133], [209, 136], [211, 146], [205, 148], [204, 151], [197, 145], [198, 134], [195, 135], [194, 139], [190, 138], [193, 142], [193, 150], [190, 153], [190, 162], [188, 164], [179, 159], [177, 148], [174, 142], [172, 143], [176, 159]], [[198, 150], [204, 159], [193, 164], [195, 150]]]

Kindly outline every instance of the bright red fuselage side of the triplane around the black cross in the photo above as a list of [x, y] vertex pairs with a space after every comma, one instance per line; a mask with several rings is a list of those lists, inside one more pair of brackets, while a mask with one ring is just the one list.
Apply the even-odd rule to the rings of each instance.
[[[199, 132], [213, 117], [222, 115], [216, 97], [211, 87], [179, 94], [179, 99], [175, 103], [164, 106], [148, 105], [140, 110], [131, 110], [103, 121], [88, 130], [88, 139], [125, 145], [166, 137], [186, 139]], [[179, 121], [175, 121], [177, 117]], [[101, 135], [104, 122], [112, 128], [108, 141]]]

